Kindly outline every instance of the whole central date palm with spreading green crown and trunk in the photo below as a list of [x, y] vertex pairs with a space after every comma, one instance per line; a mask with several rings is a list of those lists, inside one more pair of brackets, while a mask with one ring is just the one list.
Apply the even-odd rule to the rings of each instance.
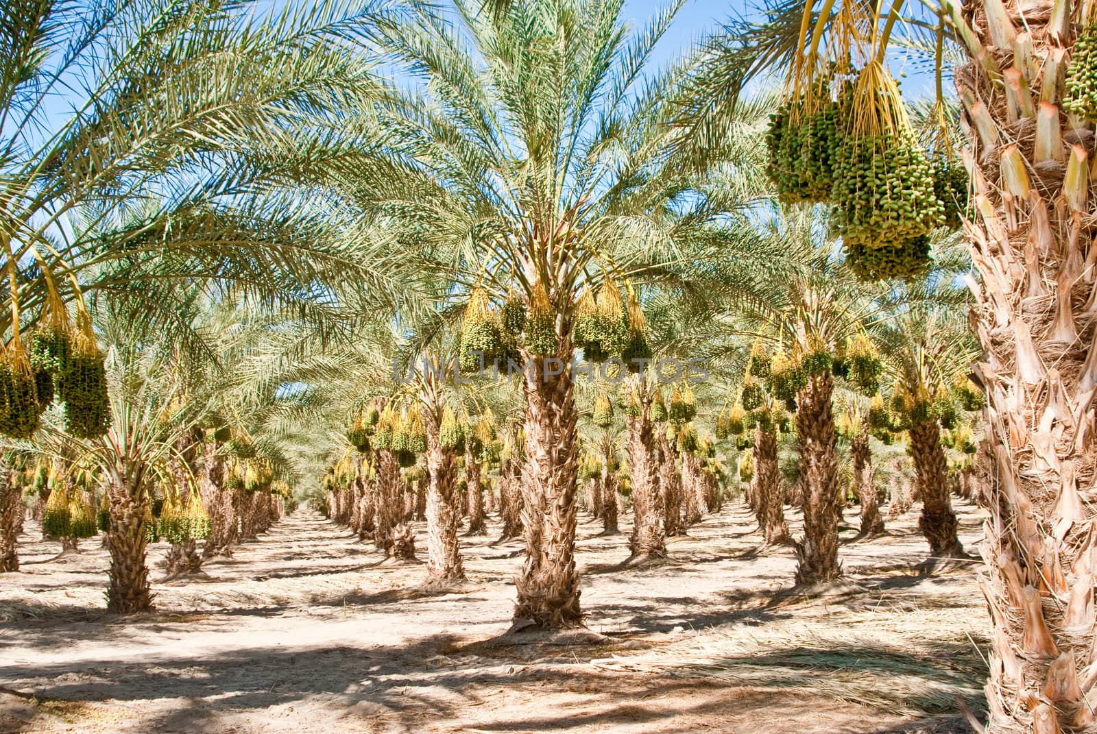
[[[456, 0], [417, 5], [410, 22], [377, 26], [398, 74], [377, 105], [392, 140], [343, 171], [343, 189], [394, 250], [453, 284], [528, 312], [517, 345], [527, 410], [522, 523], [528, 555], [516, 620], [581, 623], [575, 566], [577, 410], [573, 325], [603, 273], [668, 278], [676, 261], [726, 257], [720, 216], [744, 203], [704, 173], [730, 143], [667, 155], [688, 59], [665, 69], [652, 48], [682, 2], [640, 31], [622, 0]], [[687, 257], [688, 256], [688, 257]], [[407, 270], [407, 269], [405, 269]], [[478, 296], [479, 297], [479, 296]]]

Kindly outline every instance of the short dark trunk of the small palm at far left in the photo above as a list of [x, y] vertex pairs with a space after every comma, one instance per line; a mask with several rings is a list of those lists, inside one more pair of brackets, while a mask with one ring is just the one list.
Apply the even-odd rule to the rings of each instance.
[[139, 467], [124, 461], [115, 467], [110, 492], [111, 552], [110, 584], [106, 609], [117, 614], [131, 614], [152, 608], [145, 553], [145, 511], [148, 493]]

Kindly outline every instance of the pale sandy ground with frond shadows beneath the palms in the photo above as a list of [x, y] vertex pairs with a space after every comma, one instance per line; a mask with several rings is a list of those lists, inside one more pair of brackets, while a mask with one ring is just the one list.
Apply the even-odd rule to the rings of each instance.
[[[981, 516], [958, 509], [971, 546]], [[521, 543], [495, 542], [497, 524], [462, 538], [467, 587], [429, 595], [422, 566], [381, 563], [302, 510], [120, 618], [99, 539], [53, 560], [29, 523], [23, 571], [0, 576], [0, 734], [970, 731], [954, 700], [981, 705], [977, 566], [919, 577], [917, 508], [871, 541], [847, 510], [857, 588], [817, 597], [789, 592], [791, 549], [759, 553], [738, 500], [655, 567], [622, 567], [627, 535], [580, 519], [583, 606], [609, 643], [500, 637]], [[154, 581], [166, 550], [151, 547]]]

